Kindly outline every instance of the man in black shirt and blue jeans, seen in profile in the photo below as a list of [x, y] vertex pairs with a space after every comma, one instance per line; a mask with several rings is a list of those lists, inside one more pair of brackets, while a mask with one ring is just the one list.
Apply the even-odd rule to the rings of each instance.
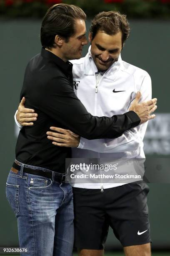
[[79, 59], [87, 44], [85, 18], [74, 5], [50, 8], [42, 21], [42, 51], [25, 71], [20, 99], [25, 96], [26, 107], [34, 108], [39, 118], [35, 125], [21, 129], [7, 179], [7, 199], [18, 220], [20, 247], [28, 249], [24, 255], [72, 254], [72, 189], [64, 183], [70, 148], [56, 148], [46, 137], [49, 127], [69, 129], [87, 139], [116, 138], [154, 118], [149, 115], [156, 100], [134, 102], [131, 110], [136, 113], [108, 118], [90, 115], [76, 97], [68, 60]]

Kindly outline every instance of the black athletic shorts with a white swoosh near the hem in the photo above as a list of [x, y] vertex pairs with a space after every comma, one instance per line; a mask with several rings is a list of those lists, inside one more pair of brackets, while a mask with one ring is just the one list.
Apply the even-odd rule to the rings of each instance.
[[143, 181], [103, 192], [73, 187], [75, 247], [103, 249], [109, 226], [122, 246], [150, 243], [148, 192]]

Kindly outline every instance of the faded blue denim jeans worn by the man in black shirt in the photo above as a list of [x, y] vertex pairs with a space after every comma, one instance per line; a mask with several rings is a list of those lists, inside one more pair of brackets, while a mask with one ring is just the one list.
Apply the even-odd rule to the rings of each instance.
[[28, 249], [28, 253], [20, 255], [72, 255], [74, 213], [70, 184], [27, 174], [21, 168], [18, 174], [10, 171], [6, 195], [18, 221], [20, 248]]

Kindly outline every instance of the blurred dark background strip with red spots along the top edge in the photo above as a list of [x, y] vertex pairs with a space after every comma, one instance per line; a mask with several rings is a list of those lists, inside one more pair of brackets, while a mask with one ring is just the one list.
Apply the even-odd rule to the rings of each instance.
[[87, 16], [118, 10], [128, 18], [170, 18], [170, 0], [0, 0], [0, 17], [41, 18], [58, 3], [78, 5]]

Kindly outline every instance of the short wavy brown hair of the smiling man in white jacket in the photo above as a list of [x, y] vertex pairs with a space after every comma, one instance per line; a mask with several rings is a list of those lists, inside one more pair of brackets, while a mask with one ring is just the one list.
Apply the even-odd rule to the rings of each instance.
[[115, 35], [119, 31], [122, 32], [122, 45], [128, 39], [130, 34], [129, 22], [126, 15], [120, 14], [117, 11], [102, 12], [95, 15], [90, 26], [92, 39], [98, 31], [104, 31], [108, 35]]

